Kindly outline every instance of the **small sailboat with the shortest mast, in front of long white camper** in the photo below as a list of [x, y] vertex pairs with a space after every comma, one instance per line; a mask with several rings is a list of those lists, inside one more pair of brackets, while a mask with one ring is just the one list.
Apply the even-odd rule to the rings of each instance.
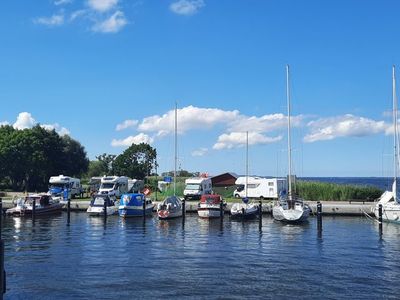
[[247, 196], [247, 186], [249, 179], [249, 132], [246, 131], [246, 197], [242, 199], [243, 203], [235, 203], [231, 208], [231, 218], [232, 219], [254, 219], [258, 216], [258, 205], [254, 202], [249, 203], [249, 198]]

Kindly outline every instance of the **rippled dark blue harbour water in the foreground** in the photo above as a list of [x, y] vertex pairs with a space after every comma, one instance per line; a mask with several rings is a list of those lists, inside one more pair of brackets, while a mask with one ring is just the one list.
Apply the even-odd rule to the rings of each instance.
[[4, 220], [6, 299], [399, 298], [400, 226], [324, 217], [122, 220], [73, 213]]

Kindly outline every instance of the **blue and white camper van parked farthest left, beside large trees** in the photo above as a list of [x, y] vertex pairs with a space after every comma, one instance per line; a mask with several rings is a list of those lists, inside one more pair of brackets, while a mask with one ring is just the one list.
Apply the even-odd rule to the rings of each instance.
[[81, 195], [82, 191], [81, 181], [78, 178], [59, 175], [51, 176], [49, 179], [48, 194], [54, 200], [68, 200]]

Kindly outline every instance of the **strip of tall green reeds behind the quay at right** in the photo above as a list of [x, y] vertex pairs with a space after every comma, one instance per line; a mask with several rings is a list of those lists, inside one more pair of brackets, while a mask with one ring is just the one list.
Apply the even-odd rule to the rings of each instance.
[[299, 196], [312, 201], [374, 201], [382, 190], [372, 186], [342, 185], [314, 181], [297, 181], [296, 190]]

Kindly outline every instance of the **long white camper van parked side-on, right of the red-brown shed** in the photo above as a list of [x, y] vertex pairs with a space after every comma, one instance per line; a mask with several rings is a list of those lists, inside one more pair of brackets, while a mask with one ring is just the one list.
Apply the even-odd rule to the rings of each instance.
[[247, 197], [260, 199], [278, 199], [281, 193], [286, 193], [286, 180], [283, 178], [239, 177], [236, 179], [236, 189], [233, 196], [236, 198]]

